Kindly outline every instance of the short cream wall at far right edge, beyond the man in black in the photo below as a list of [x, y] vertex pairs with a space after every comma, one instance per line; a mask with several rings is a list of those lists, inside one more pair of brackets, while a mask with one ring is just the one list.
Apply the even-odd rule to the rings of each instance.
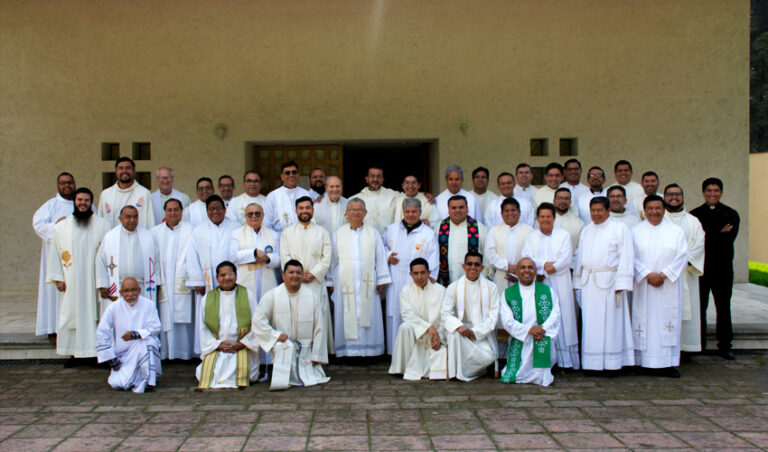
[[768, 152], [749, 155], [749, 260], [768, 263]]

